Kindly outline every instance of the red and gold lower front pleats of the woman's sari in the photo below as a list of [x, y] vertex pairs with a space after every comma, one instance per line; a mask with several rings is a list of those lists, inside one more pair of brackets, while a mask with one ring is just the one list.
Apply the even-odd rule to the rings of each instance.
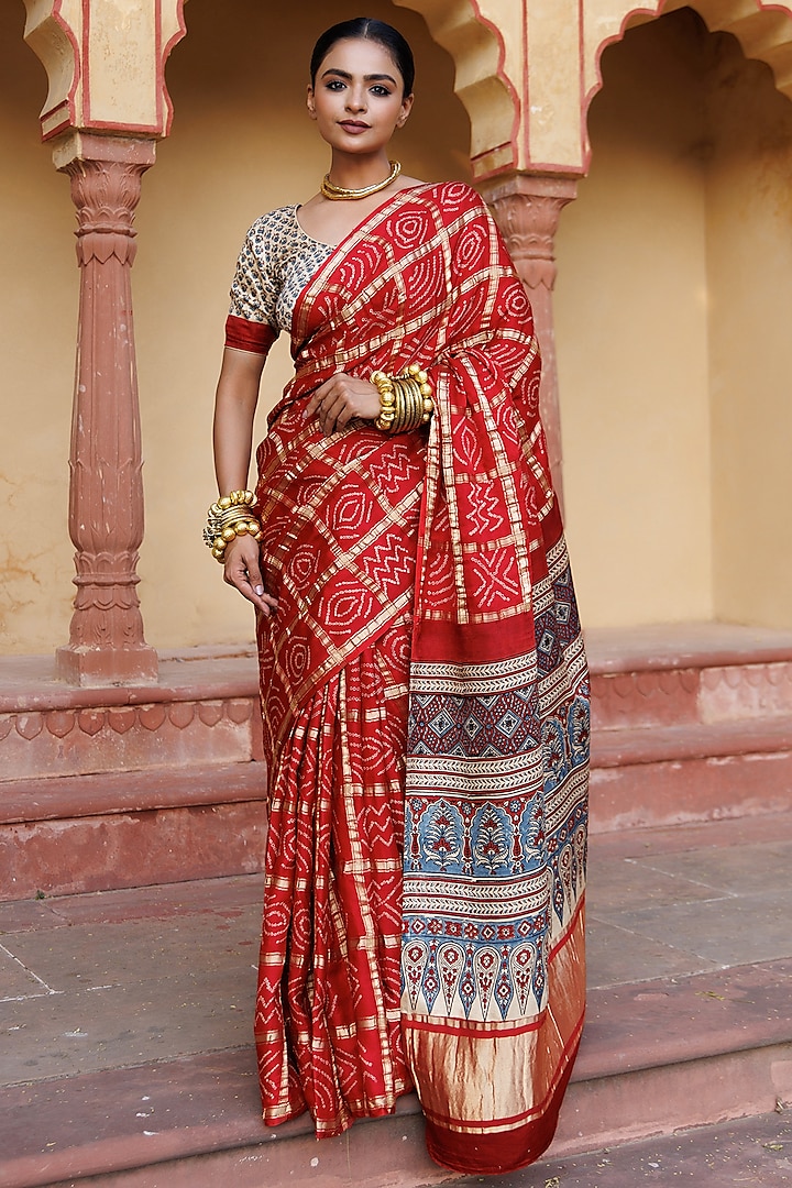
[[[404, 623], [393, 628], [404, 638]], [[317, 1133], [408, 1086], [399, 1024], [406, 656], [362, 652], [298, 716], [272, 792], [255, 1036], [270, 1121]], [[399, 690], [401, 690], [399, 693]], [[387, 725], [386, 725], [387, 722]]]

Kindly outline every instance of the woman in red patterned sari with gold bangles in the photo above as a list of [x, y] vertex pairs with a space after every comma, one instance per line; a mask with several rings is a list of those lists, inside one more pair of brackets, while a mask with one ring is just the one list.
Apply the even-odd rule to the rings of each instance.
[[412, 83], [388, 25], [317, 43], [330, 170], [239, 259], [208, 543], [259, 612], [265, 1121], [414, 1086], [432, 1157], [492, 1173], [546, 1148], [579, 1041], [588, 685], [528, 302], [481, 198], [389, 162]]

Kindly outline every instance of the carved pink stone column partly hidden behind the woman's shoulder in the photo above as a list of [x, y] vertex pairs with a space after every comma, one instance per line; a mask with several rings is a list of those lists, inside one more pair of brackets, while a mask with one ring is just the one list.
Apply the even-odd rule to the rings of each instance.
[[566, 203], [575, 197], [576, 189], [577, 183], [572, 178], [533, 173], [511, 173], [481, 185], [533, 307], [541, 347], [539, 407], [547, 436], [553, 486], [562, 506], [563, 454], [552, 290], [557, 272], [555, 239], [558, 220]]

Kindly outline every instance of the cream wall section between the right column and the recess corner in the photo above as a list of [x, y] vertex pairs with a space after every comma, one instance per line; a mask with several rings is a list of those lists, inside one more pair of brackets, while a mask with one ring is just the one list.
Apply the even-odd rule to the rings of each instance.
[[557, 239], [566, 518], [584, 623], [712, 613], [702, 39], [603, 56], [591, 171]]

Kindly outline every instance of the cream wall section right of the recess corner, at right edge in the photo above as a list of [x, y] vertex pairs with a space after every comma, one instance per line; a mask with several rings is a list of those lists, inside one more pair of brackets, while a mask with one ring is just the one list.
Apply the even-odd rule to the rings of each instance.
[[792, 627], [792, 102], [730, 38], [708, 99], [715, 613]]

